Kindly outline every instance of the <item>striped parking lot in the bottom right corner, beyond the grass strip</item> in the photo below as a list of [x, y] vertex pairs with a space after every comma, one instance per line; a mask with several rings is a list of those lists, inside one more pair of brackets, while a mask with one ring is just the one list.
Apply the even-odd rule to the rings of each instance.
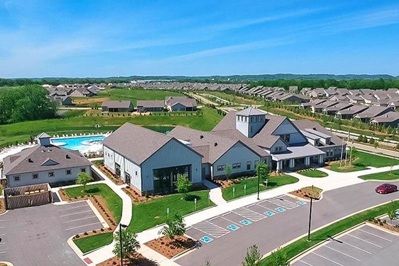
[[399, 265], [397, 248], [399, 236], [366, 225], [326, 242], [292, 265]]

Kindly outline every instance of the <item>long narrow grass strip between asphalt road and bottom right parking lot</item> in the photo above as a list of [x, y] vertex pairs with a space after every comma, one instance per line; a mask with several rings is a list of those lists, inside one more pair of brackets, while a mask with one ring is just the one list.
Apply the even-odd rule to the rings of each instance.
[[[391, 208], [391, 205], [395, 204], [395, 208], [399, 207], [398, 202], [390, 202], [369, 210], [365, 210], [360, 212], [357, 215], [348, 217], [346, 219], [343, 219], [339, 222], [336, 222], [330, 226], [327, 226], [323, 229], [320, 229], [314, 233], [311, 234], [311, 242], [307, 241], [307, 237], [301, 238], [300, 240], [297, 240], [288, 246], [282, 248], [281, 250], [284, 251], [288, 258], [292, 258], [301, 252], [307, 250], [308, 248], [320, 243], [324, 239], [328, 239], [328, 236], [334, 236], [340, 232], [343, 232], [351, 227], [354, 227], [356, 225], [359, 225], [365, 221], [367, 221], [369, 218], [375, 218], [377, 216], [381, 216], [383, 214], [386, 214], [389, 209]], [[262, 266], [268, 266], [271, 265], [272, 257], [268, 256], [264, 259], [261, 260], [260, 265]]]

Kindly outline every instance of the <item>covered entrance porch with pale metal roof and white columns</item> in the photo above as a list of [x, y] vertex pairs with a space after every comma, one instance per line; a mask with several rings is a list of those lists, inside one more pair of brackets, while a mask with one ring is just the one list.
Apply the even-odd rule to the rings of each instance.
[[278, 173], [283, 170], [299, 170], [309, 168], [311, 165], [323, 165], [326, 153], [311, 144], [304, 146], [291, 146], [286, 152], [271, 154], [272, 169]]

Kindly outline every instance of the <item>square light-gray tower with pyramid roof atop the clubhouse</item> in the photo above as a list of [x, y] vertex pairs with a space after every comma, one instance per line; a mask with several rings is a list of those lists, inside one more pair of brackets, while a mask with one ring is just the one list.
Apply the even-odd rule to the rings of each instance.
[[255, 136], [265, 125], [266, 113], [249, 107], [235, 115], [235, 128], [247, 138]]

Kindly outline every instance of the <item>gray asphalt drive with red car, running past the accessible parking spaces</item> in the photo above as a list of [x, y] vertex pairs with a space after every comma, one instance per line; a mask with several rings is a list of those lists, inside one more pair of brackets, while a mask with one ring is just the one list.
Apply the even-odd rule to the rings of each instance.
[[[374, 188], [380, 183], [365, 182], [325, 192], [322, 200], [314, 202], [312, 229], [351, 215], [356, 211], [399, 198], [399, 192], [388, 195], [375, 193]], [[399, 182], [394, 183], [399, 185]], [[256, 211], [254, 208], [253, 210]], [[258, 212], [262, 214], [261, 211]], [[309, 204], [287, 209], [280, 214], [214, 238], [212, 242], [204, 243], [197, 250], [186, 254], [176, 262], [183, 266], [200, 266], [209, 257], [213, 265], [241, 265], [246, 248], [251, 245], [256, 244], [261, 253], [266, 254], [284, 243], [306, 234], [308, 216]], [[211, 220], [208, 222], [212, 223]], [[189, 231], [188, 234], [190, 234]], [[197, 233], [197, 236], [204, 235], [203, 232], [202, 234]]]

